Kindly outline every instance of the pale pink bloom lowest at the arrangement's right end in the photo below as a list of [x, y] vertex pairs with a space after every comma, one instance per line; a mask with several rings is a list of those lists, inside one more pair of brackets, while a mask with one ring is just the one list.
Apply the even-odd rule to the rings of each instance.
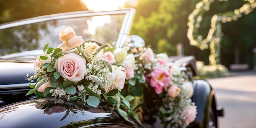
[[185, 118], [187, 125], [189, 125], [189, 123], [195, 120], [196, 114], [197, 114], [196, 106], [190, 106], [189, 108], [186, 108], [182, 116]]

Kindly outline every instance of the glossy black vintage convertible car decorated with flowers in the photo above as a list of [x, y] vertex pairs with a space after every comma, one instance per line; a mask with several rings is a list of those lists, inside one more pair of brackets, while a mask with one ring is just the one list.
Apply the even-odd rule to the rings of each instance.
[[[27, 80], [29, 75], [35, 74], [36, 58], [42, 54], [42, 49], [45, 50], [45, 45], [48, 43], [48, 47], [60, 45], [59, 31], [67, 26], [71, 26], [76, 31], [76, 35], [86, 37], [85, 40], [98, 45], [111, 43], [115, 48], [129, 46], [134, 50], [141, 50], [143, 40], [138, 36], [129, 35], [134, 14], [135, 9], [78, 11], [39, 16], [0, 25], [0, 127], [167, 127], [168, 125], [166, 126], [159, 117], [149, 111], [157, 107], [157, 104], [151, 102], [154, 102], [153, 99], [145, 99], [143, 102], [137, 100], [142, 106], [141, 115], [137, 118], [130, 116], [125, 118], [121, 110], [107, 103], [93, 107], [90, 106], [89, 101], [85, 104], [58, 98], [40, 98], [39, 93], [26, 95], [37, 82], [35, 80], [29, 83]], [[197, 108], [197, 115], [187, 127], [218, 128], [218, 117], [223, 116], [223, 109], [218, 108], [211, 85], [205, 80], [193, 79], [193, 76], [197, 75], [195, 57], [170, 56], [168, 61], [180, 67], [180, 71], [184, 72], [188, 76], [187, 79], [193, 83], [191, 101]], [[37, 99], [38, 96], [40, 99]], [[127, 102], [124, 104], [127, 105]]]

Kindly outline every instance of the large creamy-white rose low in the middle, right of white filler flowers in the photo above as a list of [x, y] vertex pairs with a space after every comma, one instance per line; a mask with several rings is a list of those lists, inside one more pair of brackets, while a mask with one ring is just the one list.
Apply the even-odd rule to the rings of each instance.
[[118, 89], [121, 91], [121, 89], [124, 88], [124, 82], [126, 79], [126, 73], [121, 70], [122, 67], [117, 67], [115, 65], [112, 65], [112, 73], [110, 73], [110, 84], [108, 85], [108, 88], [105, 88], [106, 92], [109, 92], [113, 89]]

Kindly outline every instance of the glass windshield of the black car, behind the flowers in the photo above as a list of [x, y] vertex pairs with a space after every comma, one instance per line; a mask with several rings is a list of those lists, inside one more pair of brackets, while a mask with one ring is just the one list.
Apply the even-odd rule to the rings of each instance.
[[[13, 24], [18, 24], [13, 25], [14, 27], [9, 27], [6, 24], [7, 27], [4, 28], [4, 25], [0, 25], [0, 56], [7, 58], [3, 56], [43, 49], [48, 43], [49, 47], [57, 47], [62, 43], [58, 33], [67, 26], [72, 27], [77, 36], [99, 40], [105, 44], [116, 43], [118, 40], [122, 40], [120, 37], [128, 33], [124, 31], [127, 26], [130, 27], [126, 21], [127, 12], [90, 12], [94, 14], [79, 12], [65, 15], [62, 13], [61, 16], [55, 16], [57, 18], [52, 18], [54, 15], [51, 15], [48, 19], [39, 17], [22, 21], [23, 24], [14, 22]], [[77, 15], [80, 13], [84, 16]]]

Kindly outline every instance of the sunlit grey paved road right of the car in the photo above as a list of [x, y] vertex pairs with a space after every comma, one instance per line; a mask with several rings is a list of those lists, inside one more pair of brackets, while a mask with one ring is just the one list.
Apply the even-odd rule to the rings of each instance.
[[256, 71], [233, 72], [229, 77], [207, 79], [213, 86], [218, 106], [220, 128], [256, 128]]

